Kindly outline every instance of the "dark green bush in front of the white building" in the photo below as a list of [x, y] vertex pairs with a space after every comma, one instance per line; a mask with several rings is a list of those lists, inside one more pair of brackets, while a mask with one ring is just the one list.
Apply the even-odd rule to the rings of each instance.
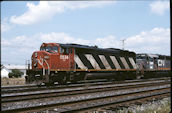
[[22, 75], [23, 72], [18, 69], [12, 69], [12, 72], [8, 74], [9, 78], [20, 78]]

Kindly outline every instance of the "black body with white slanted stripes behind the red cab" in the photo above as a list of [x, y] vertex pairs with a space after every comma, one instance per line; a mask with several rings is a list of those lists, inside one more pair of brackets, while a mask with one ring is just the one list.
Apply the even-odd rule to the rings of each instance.
[[96, 46], [72, 45], [75, 47], [75, 69], [85, 70], [87, 79], [106, 78], [134, 79], [136, 54], [134, 52]]

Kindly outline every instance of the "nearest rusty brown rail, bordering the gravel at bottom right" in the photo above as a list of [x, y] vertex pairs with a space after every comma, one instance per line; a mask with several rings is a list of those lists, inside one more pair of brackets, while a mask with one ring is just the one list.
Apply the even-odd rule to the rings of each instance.
[[[154, 92], [154, 91], [156, 91], [156, 92]], [[146, 96], [139, 96], [141, 93], [146, 94]], [[109, 97], [104, 97], [104, 98], [95, 98], [95, 99], [72, 101], [72, 102], [66, 102], [66, 103], [48, 104], [48, 105], [41, 105], [41, 106], [35, 106], [35, 107], [32, 106], [32, 107], [27, 107], [27, 108], [8, 109], [8, 110], [3, 110], [2, 113], [3, 112], [19, 112], [19, 111], [22, 113], [23, 112], [31, 112], [31, 111], [38, 112], [38, 111], [44, 111], [44, 110], [47, 111], [47, 109], [52, 109], [52, 108], [56, 108], [56, 111], [59, 110], [58, 112], [64, 112], [64, 113], [70, 112], [71, 113], [71, 112], [76, 112], [76, 111], [81, 111], [81, 110], [86, 110], [86, 109], [102, 107], [105, 105], [111, 105], [114, 103], [121, 103], [121, 102], [130, 101], [130, 100], [137, 100], [137, 99], [142, 99], [145, 97], [151, 97], [151, 96], [169, 94], [169, 93], [170, 93], [170, 88], [164, 88], [164, 89], [159, 89], [159, 90], [157, 89], [157, 90], [135, 92], [135, 93], [129, 93], [129, 94], [123, 94], [123, 95], [109, 96]], [[100, 104], [103, 100], [113, 100], [113, 98], [118, 98], [118, 100]], [[93, 101], [94, 101], [94, 104], [88, 106], [89, 103], [93, 103]], [[86, 104], [86, 106], [81, 108], [81, 105], [83, 105], [84, 103]], [[99, 103], [99, 104], [96, 105], [95, 103]], [[76, 105], [80, 105], [80, 107], [74, 108], [74, 106], [76, 106]], [[71, 109], [65, 109], [66, 107], [69, 107]]]

